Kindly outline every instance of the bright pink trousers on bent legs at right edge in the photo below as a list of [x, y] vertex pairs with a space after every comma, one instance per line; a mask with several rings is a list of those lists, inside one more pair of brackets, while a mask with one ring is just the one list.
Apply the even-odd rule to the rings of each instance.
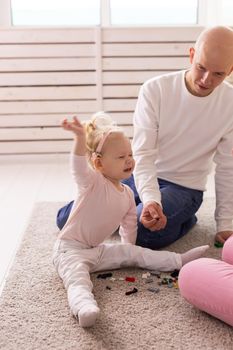
[[179, 288], [190, 304], [233, 326], [233, 236], [224, 244], [222, 261], [200, 258], [184, 265]]

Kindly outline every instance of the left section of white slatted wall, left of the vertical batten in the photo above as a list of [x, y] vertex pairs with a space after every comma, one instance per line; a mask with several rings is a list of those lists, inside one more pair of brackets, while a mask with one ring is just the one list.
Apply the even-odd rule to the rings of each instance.
[[95, 28], [0, 30], [0, 154], [68, 152], [65, 116], [98, 109]]

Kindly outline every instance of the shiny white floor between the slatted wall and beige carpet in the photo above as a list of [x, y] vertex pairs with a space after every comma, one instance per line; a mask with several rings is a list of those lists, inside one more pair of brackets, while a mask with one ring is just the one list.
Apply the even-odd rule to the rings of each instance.
[[[0, 292], [34, 204], [69, 201], [74, 193], [68, 155], [0, 157]], [[213, 175], [205, 196], [214, 196]]]

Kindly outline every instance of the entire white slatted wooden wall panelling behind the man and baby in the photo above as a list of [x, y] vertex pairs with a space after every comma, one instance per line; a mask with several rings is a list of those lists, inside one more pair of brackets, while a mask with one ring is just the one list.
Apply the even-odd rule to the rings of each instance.
[[69, 152], [61, 120], [100, 109], [132, 137], [141, 84], [186, 68], [201, 30], [0, 29], [0, 154]]

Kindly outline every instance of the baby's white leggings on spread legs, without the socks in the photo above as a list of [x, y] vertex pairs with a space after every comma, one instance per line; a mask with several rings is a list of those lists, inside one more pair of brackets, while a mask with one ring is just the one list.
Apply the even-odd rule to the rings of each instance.
[[132, 244], [103, 243], [89, 248], [71, 240], [57, 240], [53, 262], [67, 290], [74, 315], [87, 305], [97, 305], [92, 294], [91, 272], [137, 266], [143, 269], [172, 271], [182, 266], [180, 254], [154, 251]]

